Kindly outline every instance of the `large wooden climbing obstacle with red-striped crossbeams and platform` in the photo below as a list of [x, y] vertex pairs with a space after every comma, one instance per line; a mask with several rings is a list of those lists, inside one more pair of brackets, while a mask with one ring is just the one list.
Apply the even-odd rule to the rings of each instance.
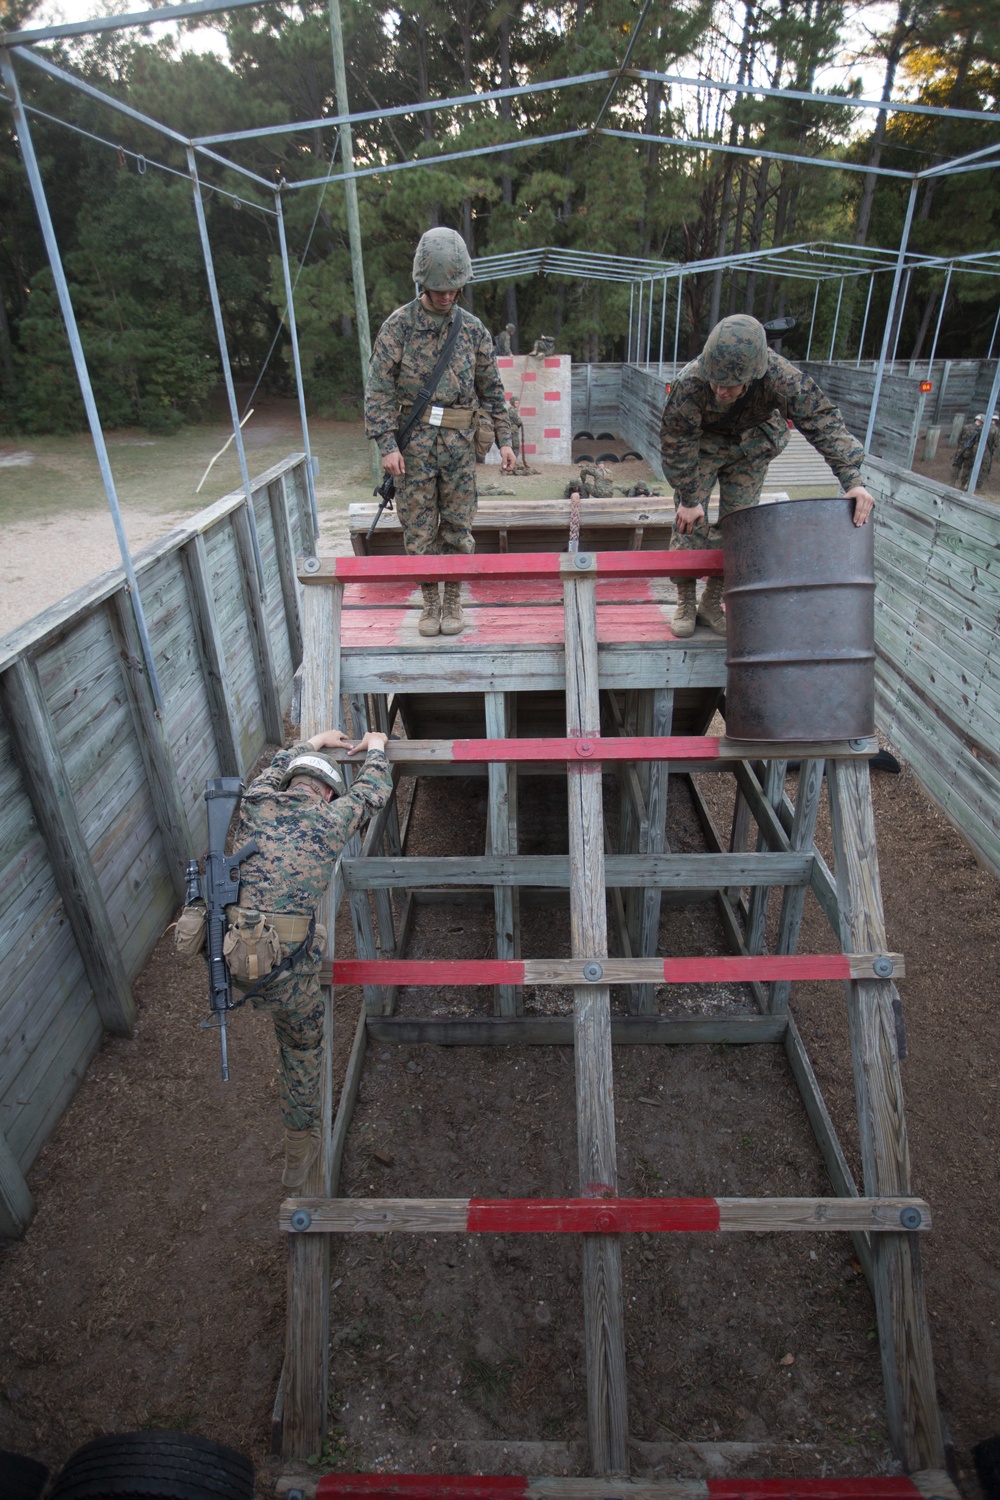
[[[301, 734], [340, 720], [342, 696], [355, 729], [388, 729], [402, 718], [406, 738], [388, 747], [400, 776], [468, 774], [489, 778], [487, 849], [478, 858], [405, 854], [394, 801], [343, 854], [325, 912], [346, 896], [355, 960], [333, 958], [325, 980], [361, 984], [360, 1016], [330, 1149], [280, 1226], [289, 1242], [288, 1341], [282, 1380], [286, 1460], [322, 1448], [328, 1396], [330, 1236], [340, 1233], [571, 1233], [582, 1239], [582, 1284], [592, 1478], [525, 1480], [462, 1476], [330, 1474], [303, 1488], [285, 1478], [279, 1494], [546, 1494], [546, 1496], [954, 1496], [943, 1470], [919, 1236], [928, 1204], [910, 1190], [898, 1066], [900, 954], [888, 950], [868, 756], [874, 741], [801, 746], [733, 744], [709, 736], [726, 681], [724, 645], [705, 630], [684, 642], [670, 632], [669, 580], [721, 572], [718, 552], [519, 552], [531, 528], [508, 528], [496, 550], [468, 558], [310, 558], [304, 586]], [[583, 531], [583, 543], [588, 532]], [[421, 639], [415, 630], [418, 580], [462, 579], [471, 596], [460, 636]], [[534, 708], [532, 708], [534, 704]], [[553, 724], [553, 712], [562, 724]], [[469, 726], [475, 732], [469, 732]], [[427, 728], [436, 729], [430, 738]], [[531, 728], [528, 728], [531, 726]], [[448, 729], [453, 732], [448, 734]], [[559, 732], [561, 729], [561, 732]], [[681, 730], [681, 732], [678, 732]], [[795, 804], [784, 794], [789, 759], [801, 762]], [[619, 852], [606, 849], [603, 770], [622, 786]], [[517, 850], [517, 778], [564, 768], [570, 834], [567, 854]], [[693, 771], [735, 777], [732, 834], [724, 838], [691, 782], [705, 854], [672, 854], [666, 838], [669, 778]], [[814, 844], [826, 782], [834, 866]], [[750, 846], [750, 852], [748, 852]], [[492, 886], [496, 957], [451, 963], [406, 958], [415, 892]], [[522, 957], [519, 892], [568, 891], [571, 957]], [[664, 891], [714, 892], [730, 957], [657, 958]], [[750, 892], [744, 900], [742, 891]], [[837, 954], [799, 954], [807, 890], [840, 944]], [[406, 892], [396, 926], [390, 892]], [[769, 898], [780, 898], [775, 951], [765, 951]], [[610, 954], [609, 896], [613, 914]], [[846, 986], [864, 1182], [852, 1176], [810, 1058], [789, 1010], [796, 980]], [[666, 1017], [655, 986], [748, 982], [756, 1016]], [[493, 987], [493, 1014], [399, 1018], [400, 984]], [[526, 1016], [522, 986], [573, 986], [570, 1016]], [[628, 1014], [612, 1016], [610, 986], [625, 986]], [[327, 992], [328, 993], [328, 992]], [[330, 1010], [330, 1006], [328, 1006]], [[579, 1196], [574, 1198], [342, 1198], [340, 1160], [360, 1084], [367, 1040], [463, 1046], [573, 1044], [576, 1059]], [[825, 1198], [621, 1198], [615, 1146], [616, 1044], [769, 1042], [781, 1046], [826, 1164]], [[621, 1236], [627, 1233], [850, 1233], [868, 1276], [891, 1442], [913, 1479], [831, 1480], [826, 1488], [765, 1488], [747, 1482], [636, 1482], [630, 1472]], [[406, 1485], [411, 1484], [409, 1488]], [[805, 1482], [810, 1484], [810, 1482]], [[465, 1485], [465, 1488], [462, 1488]], [[478, 1488], [477, 1488], [478, 1485]], [[742, 1485], [742, 1488], [741, 1488]], [[867, 1488], [852, 1488], [864, 1485]], [[423, 1488], [421, 1488], [423, 1486]], [[771, 1488], [768, 1488], [771, 1486]], [[840, 1488], [838, 1488], [840, 1486]], [[895, 1488], [894, 1488], [895, 1486]]]

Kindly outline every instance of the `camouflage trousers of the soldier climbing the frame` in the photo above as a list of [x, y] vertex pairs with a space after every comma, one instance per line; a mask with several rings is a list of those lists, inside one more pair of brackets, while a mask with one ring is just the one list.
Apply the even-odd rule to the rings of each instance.
[[[286, 952], [289, 948], [283, 946], [282, 957]], [[274, 1023], [282, 1122], [286, 1130], [312, 1130], [321, 1120], [324, 1016], [315, 950], [276, 984], [252, 994], [250, 1005], [256, 1011], [267, 1011]]]

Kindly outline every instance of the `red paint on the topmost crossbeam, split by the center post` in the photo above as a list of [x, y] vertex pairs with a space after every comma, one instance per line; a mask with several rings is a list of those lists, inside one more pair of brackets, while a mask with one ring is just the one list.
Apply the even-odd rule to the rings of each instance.
[[[595, 552], [603, 578], [700, 578], [723, 572], [721, 550], [705, 552]], [[331, 558], [343, 584], [399, 584], [412, 578], [559, 578], [558, 552], [496, 552], [474, 556]]]

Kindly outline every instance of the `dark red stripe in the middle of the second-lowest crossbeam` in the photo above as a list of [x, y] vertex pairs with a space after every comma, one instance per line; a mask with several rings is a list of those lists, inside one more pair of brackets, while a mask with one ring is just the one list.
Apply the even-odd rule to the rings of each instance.
[[469, 1198], [471, 1234], [711, 1233], [715, 1198]]

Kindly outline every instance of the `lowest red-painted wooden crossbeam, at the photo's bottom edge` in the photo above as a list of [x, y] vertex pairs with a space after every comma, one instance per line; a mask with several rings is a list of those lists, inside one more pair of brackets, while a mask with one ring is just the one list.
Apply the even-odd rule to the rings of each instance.
[[[285, 1497], [301, 1480], [279, 1486]], [[529, 1474], [324, 1474], [316, 1500], [921, 1500], [958, 1491], [879, 1479], [580, 1479]]]

